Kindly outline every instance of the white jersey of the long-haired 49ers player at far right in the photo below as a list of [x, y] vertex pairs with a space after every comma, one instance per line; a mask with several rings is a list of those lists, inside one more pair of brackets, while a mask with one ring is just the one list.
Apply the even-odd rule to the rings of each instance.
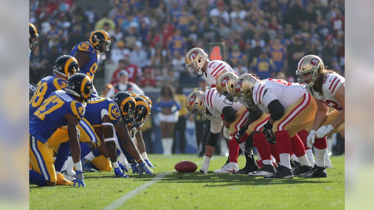
[[328, 73], [325, 75], [322, 84], [323, 96], [315, 91], [311, 91], [307, 88], [307, 92], [310, 93], [315, 99], [324, 102], [327, 106], [335, 108], [338, 111], [342, 111], [340, 103], [334, 97], [339, 87], [345, 84], [345, 78], [336, 73]]

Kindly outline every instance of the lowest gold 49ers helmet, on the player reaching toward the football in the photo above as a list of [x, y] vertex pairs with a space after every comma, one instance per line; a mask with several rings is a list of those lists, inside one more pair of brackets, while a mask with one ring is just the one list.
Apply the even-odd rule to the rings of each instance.
[[204, 93], [200, 90], [190, 93], [186, 99], [186, 108], [190, 114], [195, 114], [195, 120], [204, 121], [206, 110], [204, 104]]

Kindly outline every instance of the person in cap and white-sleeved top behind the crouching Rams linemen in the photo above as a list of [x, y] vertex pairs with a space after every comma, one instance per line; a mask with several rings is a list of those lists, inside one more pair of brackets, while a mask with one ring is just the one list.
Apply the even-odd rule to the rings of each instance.
[[140, 87], [129, 81], [129, 73], [126, 70], [121, 70], [119, 72], [119, 82], [113, 84], [113, 87], [108, 91], [107, 95], [105, 95], [105, 98], [113, 98], [113, 96], [120, 91], [132, 91], [137, 94], [144, 94]]

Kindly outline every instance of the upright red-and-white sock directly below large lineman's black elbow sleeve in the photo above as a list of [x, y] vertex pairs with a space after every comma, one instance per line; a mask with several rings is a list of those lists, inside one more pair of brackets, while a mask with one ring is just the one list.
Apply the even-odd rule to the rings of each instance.
[[289, 163], [289, 152], [291, 151], [291, 139], [289, 138], [289, 133], [286, 130], [279, 130], [275, 133], [275, 136], [281, 165], [291, 169], [291, 164]]

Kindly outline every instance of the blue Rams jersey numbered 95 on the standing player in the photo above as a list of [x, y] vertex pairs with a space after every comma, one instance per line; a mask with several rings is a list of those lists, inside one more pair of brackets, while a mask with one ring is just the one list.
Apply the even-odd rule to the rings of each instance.
[[93, 74], [95, 74], [99, 64], [100, 55], [96, 53], [95, 48], [87, 41], [83, 41], [74, 46], [70, 51], [70, 56], [74, 56], [77, 51], [86, 52], [90, 56], [90, 60], [85, 65], [79, 65], [79, 70], [81, 73], [88, 75], [88, 77], [92, 80]]

